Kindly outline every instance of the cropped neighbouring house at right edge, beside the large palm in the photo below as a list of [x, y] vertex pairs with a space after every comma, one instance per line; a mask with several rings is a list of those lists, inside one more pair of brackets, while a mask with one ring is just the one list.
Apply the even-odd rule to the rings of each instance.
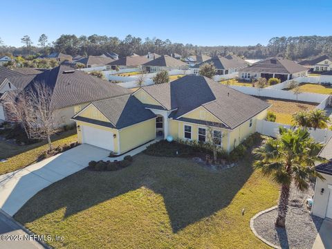
[[322, 174], [325, 180], [316, 179], [312, 212], [321, 218], [332, 219], [332, 138], [326, 143], [320, 156], [329, 161], [316, 167], [316, 171]]

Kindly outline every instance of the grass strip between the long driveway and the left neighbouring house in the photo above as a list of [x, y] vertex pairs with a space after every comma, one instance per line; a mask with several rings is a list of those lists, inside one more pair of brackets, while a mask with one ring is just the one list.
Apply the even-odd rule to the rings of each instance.
[[[76, 130], [65, 131], [53, 136], [53, 146], [70, 144], [77, 141]], [[38, 156], [48, 149], [46, 142], [37, 142], [33, 145], [12, 145], [0, 140], [0, 158], [8, 158], [8, 162], [0, 163], [0, 174], [13, 172], [35, 163]]]

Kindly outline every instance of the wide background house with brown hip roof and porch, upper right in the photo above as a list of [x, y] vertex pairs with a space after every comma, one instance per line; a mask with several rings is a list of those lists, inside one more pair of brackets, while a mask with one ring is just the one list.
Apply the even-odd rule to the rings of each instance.
[[256, 62], [239, 71], [239, 79], [252, 80], [252, 78], [265, 77], [266, 80], [276, 77], [282, 82], [307, 75], [308, 68], [288, 59], [271, 57]]

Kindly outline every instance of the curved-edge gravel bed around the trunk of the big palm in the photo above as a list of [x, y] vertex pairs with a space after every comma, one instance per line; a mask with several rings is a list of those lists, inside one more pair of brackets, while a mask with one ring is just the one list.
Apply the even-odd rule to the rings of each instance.
[[305, 201], [313, 195], [313, 189], [299, 192], [291, 187], [290, 205], [286, 215], [286, 228], [277, 228], [277, 209], [257, 216], [253, 225], [263, 239], [282, 248], [312, 248], [323, 219], [311, 215]]

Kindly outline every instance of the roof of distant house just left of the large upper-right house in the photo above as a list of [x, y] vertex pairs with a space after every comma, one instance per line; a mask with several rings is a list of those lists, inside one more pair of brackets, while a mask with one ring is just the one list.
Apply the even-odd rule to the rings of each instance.
[[199, 68], [204, 63], [212, 63], [216, 69], [243, 68], [248, 65], [244, 59], [241, 59], [236, 55], [228, 55], [225, 57], [219, 55], [208, 59], [205, 62], [201, 62], [200, 64], [196, 64], [193, 67]]

